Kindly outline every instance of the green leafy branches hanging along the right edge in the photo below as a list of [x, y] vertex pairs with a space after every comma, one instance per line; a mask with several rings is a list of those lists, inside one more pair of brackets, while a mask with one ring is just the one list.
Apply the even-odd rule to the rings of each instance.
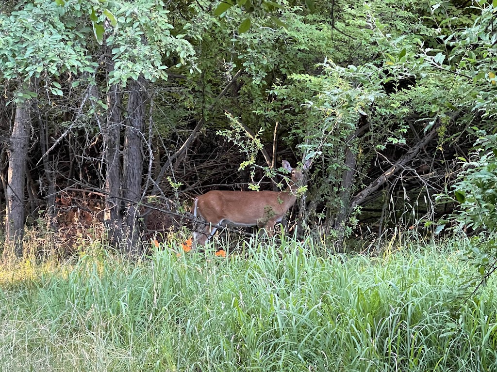
[[[442, 21], [438, 13], [454, 11], [458, 16]], [[449, 9], [449, 10], [448, 10]], [[444, 130], [451, 125], [451, 117], [457, 116], [464, 130], [476, 138], [474, 152], [470, 160], [464, 161], [464, 171], [459, 175], [450, 196], [440, 200], [451, 201], [457, 209], [450, 218], [455, 230], [473, 234], [472, 245], [466, 251], [471, 263], [479, 268], [485, 281], [496, 269], [496, 177], [495, 159], [496, 135], [496, 80], [492, 45], [497, 40], [493, 30], [495, 6], [487, 3], [475, 4], [462, 10], [450, 10], [448, 2], [432, 4], [433, 20], [440, 28], [431, 36], [425, 47], [418, 41], [420, 53], [414, 60], [413, 70], [426, 76], [445, 79], [439, 85], [443, 94], [435, 97], [430, 104], [430, 116], [445, 124]], [[438, 72], [437, 72], [438, 71]], [[433, 80], [431, 80], [433, 81]], [[429, 106], [424, 106], [428, 108]], [[454, 114], [456, 112], [457, 114]], [[429, 124], [432, 124], [431, 121]], [[459, 133], [456, 134], [459, 136]], [[440, 225], [438, 232], [445, 225]], [[480, 279], [481, 279], [480, 278]], [[472, 284], [476, 284], [473, 281]]]

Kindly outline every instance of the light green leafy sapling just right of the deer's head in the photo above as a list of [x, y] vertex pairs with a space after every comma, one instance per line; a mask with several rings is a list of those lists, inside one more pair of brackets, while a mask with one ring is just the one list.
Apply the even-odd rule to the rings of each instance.
[[[316, 115], [316, 122], [307, 120], [293, 127], [291, 133], [297, 138], [305, 138], [305, 143], [299, 146], [304, 153], [319, 154], [320, 162], [315, 163], [315, 167], [324, 172], [326, 182], [312, 183], [311, 194], [313, 198], [325, 202], [328, 213], [332, 213], [343, 202], [338, 193], [341, 191], [343, 172], [348, 169], [344, 164], [345, 149], [348, 147], [356, 153], [360, 151], [359, 142], [351, 138], [361, 116], [371, 114], [375, 100], [382, 97], [383, 93], [378, 85], [357, 83], [357, 75], [370, 73], [367, 68], [352, 65], [343, 68], [333, 62], [321, 66], [324, 73], [319, 77], [292, 75], [302, 85], [300, 89], [303, 86], [312, 87], [313, 91], [319, 90], [319, 93], [307, 100], [307, 108]], [[376, 132], [375, 129], [372, 131]], [[321, 219], [324, 216], [316, 217]]]

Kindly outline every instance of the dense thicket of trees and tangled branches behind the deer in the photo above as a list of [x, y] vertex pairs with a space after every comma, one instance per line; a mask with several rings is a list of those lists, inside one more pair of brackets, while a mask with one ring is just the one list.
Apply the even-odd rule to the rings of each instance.
[[145, 206], [275, 188], [276, 164], [303, 157], [303, 231], [341, 249], [353, 228], [381, 235], [450, 212], [434, 195], [451, 192], [478, 138], [494, 161], [494, 5], [248, 4], [1, 5], [2, 210], [19, 254], [40, 215], [54, 229], [94, 214], [134, 251]]

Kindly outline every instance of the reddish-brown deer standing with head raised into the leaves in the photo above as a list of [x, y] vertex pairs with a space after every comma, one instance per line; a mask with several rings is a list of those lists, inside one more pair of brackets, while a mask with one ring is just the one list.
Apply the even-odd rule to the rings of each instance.
[[[310, 160], [304, 164], [309, 167]], [[205, 244], [216, 232], [217, 225], [264, 225], [272, 236], [274, 225], [285, 217], [297, 200], [296, 191], [302, 172], [283, 160], [283, 168], [292, 173], [292, 181], [285, 191], [209, 191], [193, 202], [193, 214], [206, 223], [193, 234], [198, 244]]]

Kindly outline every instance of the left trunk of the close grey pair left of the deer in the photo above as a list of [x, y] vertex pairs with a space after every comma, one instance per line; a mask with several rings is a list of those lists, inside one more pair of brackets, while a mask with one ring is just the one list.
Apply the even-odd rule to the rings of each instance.
[[[113, 62], [108, 61], [110, 72]], [[120, 165], [120, 134], [122, 127], [121, 115], [122, 93], [117, 85], [109, 87], [107, 92], [107, 120], [102, 125], [103, 152], [105, 160], [105, 211], [104, 224], [108, 229], [111, 245], [118, 245], [122, 240], [121, 215], [121, 165]]]

